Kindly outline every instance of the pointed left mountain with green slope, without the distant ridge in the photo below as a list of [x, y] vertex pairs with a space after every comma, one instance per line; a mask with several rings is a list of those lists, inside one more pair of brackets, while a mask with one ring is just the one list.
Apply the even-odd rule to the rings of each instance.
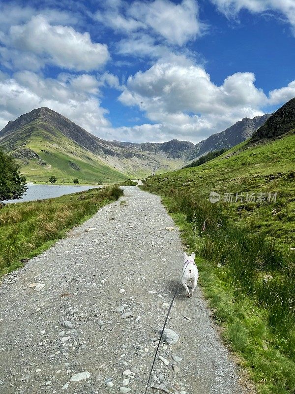
[[29, 181], [48, 181], [51, 175], [65, 182], [75, 178], [84, 183], [127, 179], [46, 120], [31, 117], [29, 123], [24, 118], [15, 122], [9, 122], [10, 127], [0, 132], [0, 145], [22, 164]]

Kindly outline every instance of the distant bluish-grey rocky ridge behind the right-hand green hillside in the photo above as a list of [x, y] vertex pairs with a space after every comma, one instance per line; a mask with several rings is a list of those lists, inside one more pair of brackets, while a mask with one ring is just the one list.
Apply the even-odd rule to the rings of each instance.
[[209, 152], [222, 148], [231, 148], [245, 141], [250, 138], [253, 132], [261, 127], [269, 117], [270, 114], [255, 116], [253, 119], [244, 118], [228, 129], [210, 135], [207, 139], [204, 139], [196, 145], [195, 156], [191, 158], [191, 160], [198, 159]]

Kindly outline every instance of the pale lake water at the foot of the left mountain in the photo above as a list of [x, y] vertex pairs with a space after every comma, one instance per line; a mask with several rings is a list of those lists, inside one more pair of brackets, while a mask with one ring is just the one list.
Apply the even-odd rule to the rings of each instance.
[[27, 185], [28, 190], [22, 198], [4, 202], [42, 200], [45, 198], [60, 197], [65, 194], [83, 192], [84, 190], [94, 189], [96, 187], [97, 186]]

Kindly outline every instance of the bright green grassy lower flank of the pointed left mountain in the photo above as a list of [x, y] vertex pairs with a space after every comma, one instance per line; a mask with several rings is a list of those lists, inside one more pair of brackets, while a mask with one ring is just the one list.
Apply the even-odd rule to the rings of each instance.
[[[3, 144], [4, 149], [11, 152], [11, 149], [21, 148], [22, 143], [26, 142], [26, 147], [46, 162], [43, 166], [38, 164], [38, 160], [29, 160], [29, 164], [22, 165], [21, 171], [28, 181], [48, 181], [52, 175], [56, 176], [58, 181], [65, 179], [65, 182], [69, 183], [72, 183], [74, 178], [83, 183], [97, 183], [99, 180], [103, 183], [115, 183], [128, 178], [66, 138], [57, 129], [51, 128], [47, 131], [46, 128], [48, 124], [43, 125], [41, 121], [36, 120], [19, 131], [16, 141], [7, 141]], [[72, 168], [69, 161], [76, 163], [81, 169]]]

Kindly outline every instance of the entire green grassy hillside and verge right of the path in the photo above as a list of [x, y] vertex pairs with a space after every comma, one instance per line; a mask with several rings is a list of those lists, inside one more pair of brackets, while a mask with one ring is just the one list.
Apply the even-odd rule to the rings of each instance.
[[[222, 336], [263, 394], [295, 393], [294, 146], [294, 132], [254, 146], [243, 142], [211, 162], [146, 183], [149, 191], [167, 196], [163, 201], [183, 242], [197, 252], [200, 284]], [[207, 202], [210, 191], [278, 197], [275, 203], [213, 205]], [[187, 216], [191, 207], [199, 211], [195, 222]], [[265, 281], [267, 275], [273, 279]]]

